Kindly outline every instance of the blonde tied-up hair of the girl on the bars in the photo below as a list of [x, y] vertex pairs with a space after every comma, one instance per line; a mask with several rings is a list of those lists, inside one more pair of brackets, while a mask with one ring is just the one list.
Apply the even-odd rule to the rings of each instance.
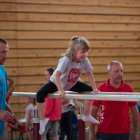
[[69, 55], [70, 55], [73, 58], [73, 56], [74, 56], [73, 53], [77, 52], [80, 49], [89, 50], [89, 43], [83, 37], [78, 38], [77, 36], [74, 36], [71, 39], [69, 47], [68, 47], [66, 53], [63, 54], [63, 56], [69, 57]]

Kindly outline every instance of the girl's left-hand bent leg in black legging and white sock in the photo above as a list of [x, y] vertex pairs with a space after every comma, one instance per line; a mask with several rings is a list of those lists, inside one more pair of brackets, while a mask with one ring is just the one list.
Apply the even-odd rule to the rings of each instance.
[[45, 119], [44, 99], [48, 93], [53, 93], [55, 91], [57, 91], [56, 85], [52, 82], [48, 82], [47, 84], [43, 85], [37, 92], [37, 108], [40, 118], [40, 134], [43, 134], [45, 125], [48, 122], [48, 119]]

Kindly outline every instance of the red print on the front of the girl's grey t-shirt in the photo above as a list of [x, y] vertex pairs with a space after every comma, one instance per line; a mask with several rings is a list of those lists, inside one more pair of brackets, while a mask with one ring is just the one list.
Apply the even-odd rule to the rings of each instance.
[[81, 75], [81, 69], [72, 68], [69, 72], [68, 80], [69, 83], [75, 83]]

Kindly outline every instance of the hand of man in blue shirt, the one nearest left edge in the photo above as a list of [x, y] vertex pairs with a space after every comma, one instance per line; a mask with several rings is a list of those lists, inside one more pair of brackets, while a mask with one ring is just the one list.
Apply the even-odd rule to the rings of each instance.
[[0, 120], [4, 122], [13, 121], [14, 116], [5, 110], [0, 110]]

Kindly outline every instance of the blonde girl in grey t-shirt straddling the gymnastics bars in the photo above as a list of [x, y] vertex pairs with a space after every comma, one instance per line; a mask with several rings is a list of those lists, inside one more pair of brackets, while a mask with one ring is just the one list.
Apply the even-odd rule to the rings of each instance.
[[[75, 92], [98, 92], [94, 76], [92, 74], [93, 67], [87, 58], [88, 51], [89, 44], [85, 38], [73, 37], [66, 53], [64, 54], [64, 57], [59, 60], [58, 66], [51, 76], [50, 81], [43, 85], [37, 92], [40, 134], [44, 132], [45, 125], [48, 122], [48, 120], [45, 119], [45, 112], [43, 108], [44, 98], [48, 93], [59, 91], [59, 97], [64, 98], [64, 94], [66, 94], [66, 91], [68, 90]], [[85, 70], [91, 86], [79, 81], [79, 77], [83, 70]], [[99, 122], [90, 115], [91, 104], [92, 101], [85, 101], [85, 111], [82, 119], [86, 122], [98, 124]]]

